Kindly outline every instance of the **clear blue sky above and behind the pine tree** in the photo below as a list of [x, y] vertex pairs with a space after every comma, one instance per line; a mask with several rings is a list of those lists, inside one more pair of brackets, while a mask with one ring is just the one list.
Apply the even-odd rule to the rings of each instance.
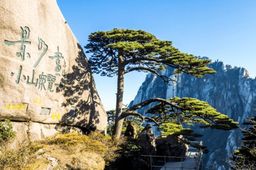
[[[84, 46], [88, 35], [113, 28], [144, 30], [171, 40], [180, 51], [245, 67], [256, 76], [256, 1], [57, 0], [68, 25]], [[87, 58], [90, 56], [87, 55]], [[115, 108], [116, 77], [94, 75], [106, 110]], [[124, 104], [129, 104], [145, 79], [125, 77]]]

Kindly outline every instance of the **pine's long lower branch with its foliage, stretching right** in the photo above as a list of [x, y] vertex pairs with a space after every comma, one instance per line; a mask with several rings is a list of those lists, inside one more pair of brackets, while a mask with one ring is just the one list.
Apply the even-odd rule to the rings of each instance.
[[133, 115], [139, 114], [135, 113], [134, 110], [149, 105], [152, 102], [160, 103], [147, 110], [147, 113], [151, 113], [153, 116], [144, 118], [158, 125], [163, 130], [161, 132], [162, 135], [183, 135], [189, 140], [202, 136], [201, 134], [194, 133], [190, 128], [183, 128], [183, 125], [191, 127], [198, 124], [201, 128], [222, 130], [238, 128], [238, 123], [234, 122], [227, 115], [216, 111], [207, 102], [194, 98], [175, 97], [168, 100], [154, 98], [132, 106], [124, 114], [126, 112]]

